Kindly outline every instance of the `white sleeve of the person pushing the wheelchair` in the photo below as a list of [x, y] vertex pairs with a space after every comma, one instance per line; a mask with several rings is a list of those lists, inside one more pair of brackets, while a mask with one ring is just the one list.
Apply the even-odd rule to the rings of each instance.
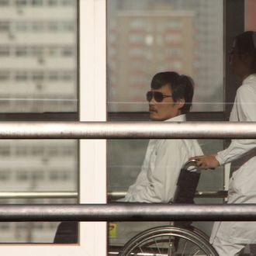
[[[256, 121], [256, 97], [255, 92], [248, 87], [240, 87], [237, 90], [236, 99], [231, 112], [230, 121], [233, 121], [232, 115], [235, 115], [237, 121], [255, 122]], [[235, 113], [235, 114], [234, 114]], [[256, 146], [256, 140], [232, 140], [226, 150], [218, 152], [216, 159], [220, 164], [226, 164], [241, 157]]]

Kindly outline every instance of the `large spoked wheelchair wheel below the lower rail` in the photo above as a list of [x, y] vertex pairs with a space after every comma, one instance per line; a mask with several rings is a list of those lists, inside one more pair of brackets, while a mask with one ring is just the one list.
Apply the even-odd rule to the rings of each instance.
[[129, 240], [120, 256], [218, 256], [206, 234], [179, 227], [154, 227]]

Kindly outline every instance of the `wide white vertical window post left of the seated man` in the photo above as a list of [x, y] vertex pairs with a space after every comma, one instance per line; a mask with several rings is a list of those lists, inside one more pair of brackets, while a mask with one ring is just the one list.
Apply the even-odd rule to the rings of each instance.
[[[79, 120], [106, 121], [106, 0], [81, 0], [80, 10]], [[81, 140], [80, 203], [99, 202], [106, 202], [106, 140]], [[106, 223], [80, 223], [80, 240], [88, 254], [106, 254]]]

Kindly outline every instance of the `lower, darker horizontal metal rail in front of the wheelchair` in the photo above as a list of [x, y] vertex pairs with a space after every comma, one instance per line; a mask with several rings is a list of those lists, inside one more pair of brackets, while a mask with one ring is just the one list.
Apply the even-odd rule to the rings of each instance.
[[0, 205], [0, 221], [255, 221], [256, 204]]

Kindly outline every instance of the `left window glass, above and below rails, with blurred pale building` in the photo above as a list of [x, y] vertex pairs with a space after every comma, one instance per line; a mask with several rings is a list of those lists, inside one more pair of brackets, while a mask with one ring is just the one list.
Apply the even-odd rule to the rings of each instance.
[[[77, 1], [1, 1], [0, 13], [2, 120], [77, 112]], [[77, 140], [2, 140], [0, 157], [0, 203], [78, 202]], [[0, 223], [0, 243], [53, 243], [58, 225]]]

